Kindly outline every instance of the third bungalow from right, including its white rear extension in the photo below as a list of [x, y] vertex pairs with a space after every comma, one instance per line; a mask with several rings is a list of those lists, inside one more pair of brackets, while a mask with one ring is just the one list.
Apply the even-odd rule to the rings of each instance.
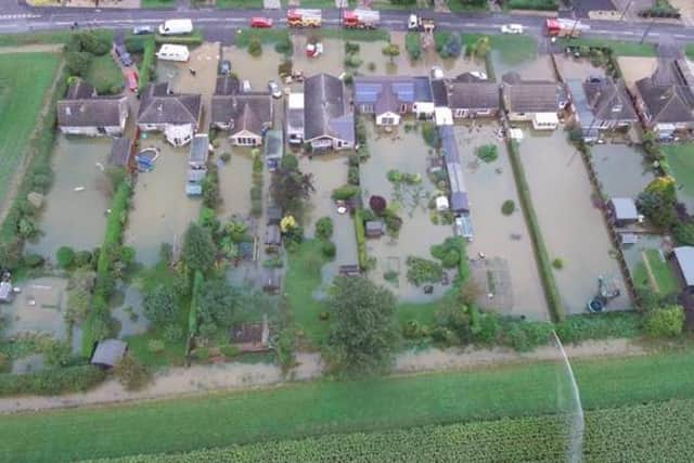
[[511, 121], [531, 121], [536, 130], [558, 127], [557, 113], [566, 106], [562, 83], [549, 80], [522, 80], [516, 73], [502, 77], [503, 104]]

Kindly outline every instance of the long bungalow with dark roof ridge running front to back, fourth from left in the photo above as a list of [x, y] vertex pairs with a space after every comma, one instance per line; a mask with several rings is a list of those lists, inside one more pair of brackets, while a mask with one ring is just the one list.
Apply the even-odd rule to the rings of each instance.
[[318, 74], [304, 81], [304, 140], [312, 152], [355, 147], [355, 115], [337, 77]]

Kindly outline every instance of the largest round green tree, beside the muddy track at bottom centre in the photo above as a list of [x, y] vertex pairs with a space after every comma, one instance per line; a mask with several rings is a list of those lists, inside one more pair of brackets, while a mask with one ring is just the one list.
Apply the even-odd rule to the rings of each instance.
[[365, 278], [337, 276], [329, 299], [329, 357], [346, 376], [386, 371], [400, 339], [393, 293]]

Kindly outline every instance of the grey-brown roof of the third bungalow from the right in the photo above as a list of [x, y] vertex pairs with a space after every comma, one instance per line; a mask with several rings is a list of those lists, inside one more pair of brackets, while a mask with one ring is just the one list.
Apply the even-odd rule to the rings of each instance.
[[512, 113], [555, 113], [564, 97], [561, 83], [549, 80], [522, 80], [516, 73], [502, 77], [503, 102]]

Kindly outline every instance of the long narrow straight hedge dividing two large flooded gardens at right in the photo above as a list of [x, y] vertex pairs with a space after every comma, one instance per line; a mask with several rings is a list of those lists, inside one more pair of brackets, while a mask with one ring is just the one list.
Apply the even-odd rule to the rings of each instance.
[[562, 297], [556, 287], [556, 281], [554, 280], [554, 273], [552, 271], [552, 261], [550, 254], [547, 250], [547, 245], [540, 231], [540, 224], [537, 214], [535, 213], [535, 206], [532, 206], [532, 200], [530, 197], [530, 187], [528, 185], [528, 179], [525, 176], [523, 163], [520, 162], [520, 154], [518, 146], [513, 140], [507, 140], [509, 157], [511, 159], [511, 167], [513, 169], [513, 176], [516, 180], [516, 189], [518, 190], [518, 198], [528, 223], [528, 230], [530, 232], [530, 239], [532, 240], [532, 248], [538, 261], [538, 268], [540, 271], [540, 279], [542, 280], [542, 287], [544, 290], [544, 296], [550, 308], [550, 313], [554, 322], [560, 322], [566, 316], [564, 305], [562, 304]]

